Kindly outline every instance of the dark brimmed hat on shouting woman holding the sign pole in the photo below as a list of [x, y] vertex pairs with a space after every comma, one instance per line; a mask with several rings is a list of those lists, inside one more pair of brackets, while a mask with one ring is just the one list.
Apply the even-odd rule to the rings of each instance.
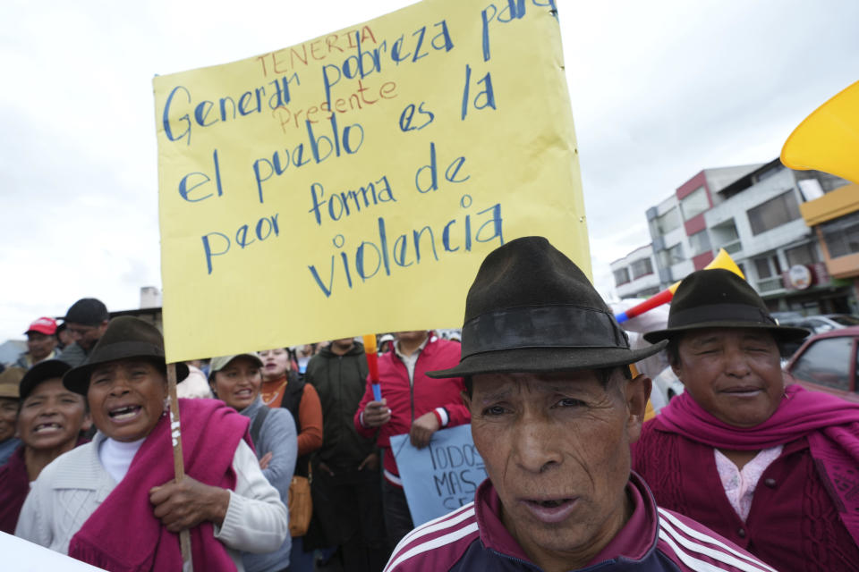
[[[89, 375], [100, 364], [117, 359], [146, 359], [166, 371], [164, 357], [164, 337], [158, 329], [140, 318], [123, 315], [107, 324], [107, 329], [87, 361], [77, 366], [63, 377], [66, 388], [81, 395], [87, 394]], [[188, 366], [176, 364], [176, 381], [188, 377]]]

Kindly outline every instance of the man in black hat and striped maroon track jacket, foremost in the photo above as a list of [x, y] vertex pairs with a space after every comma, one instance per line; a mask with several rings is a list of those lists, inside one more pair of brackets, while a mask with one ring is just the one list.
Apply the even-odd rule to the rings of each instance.
[[582, 271], [540, 237], [483, 261], [465, 302], [472, 436], [489, 478], [474, 502], [416, 528], [387, 570], [765, 570], [659, 509], [630, 470], [651, 382]]

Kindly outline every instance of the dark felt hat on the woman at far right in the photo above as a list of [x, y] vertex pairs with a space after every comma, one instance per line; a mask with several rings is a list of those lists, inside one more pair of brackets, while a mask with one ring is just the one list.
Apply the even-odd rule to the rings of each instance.
[[777, 341], [802, 340], [804, 328], [778, 325], [763, 299], [743, 278], [722, 268], [698, 270], [677, 287], [668, 312], [668, 328], [647, 332], [651, 343], [702, 328], [756, 328]]

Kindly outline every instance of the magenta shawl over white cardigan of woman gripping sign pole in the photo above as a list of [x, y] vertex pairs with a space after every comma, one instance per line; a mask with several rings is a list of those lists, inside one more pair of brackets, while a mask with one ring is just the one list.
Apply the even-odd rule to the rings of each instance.
[[[249, 419], [216, 400], [179, 400], [179, 409], [185, 474], [234, 489], [233, 457], [242, 438], [250, 444]], [[174, 478], [169, 429], [161, 417], [128, 474], [72, 537], [69, 556], [115, 572], [182, 569], [179, 535], [161, 526], [149, 503], [149, 489]], [[210, 522], [191, 529], [191, 553], [195, 569], [235, 569]]]

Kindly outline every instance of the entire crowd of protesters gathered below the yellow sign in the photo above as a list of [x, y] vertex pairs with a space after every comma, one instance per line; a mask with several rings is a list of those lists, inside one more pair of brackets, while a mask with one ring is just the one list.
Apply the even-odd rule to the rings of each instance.
[[[181, 480], [161, 333], [97, 299], [62, 322], [0, 374], [0, 530], [100, 568], [180, 569], [189, 531], [200, 570], [859, 569], [859, 406], [785, 385], [808, 332], [725, 270], [632, 349], [572, 261], [513, 240], [461, 343], [378, 338], [380, 398], [353, 338], [177, 364]], [[685, 392], [644, 423], [662, 351]], [[413, 522], [390, 438], [464, 424], [489, 478]]]

